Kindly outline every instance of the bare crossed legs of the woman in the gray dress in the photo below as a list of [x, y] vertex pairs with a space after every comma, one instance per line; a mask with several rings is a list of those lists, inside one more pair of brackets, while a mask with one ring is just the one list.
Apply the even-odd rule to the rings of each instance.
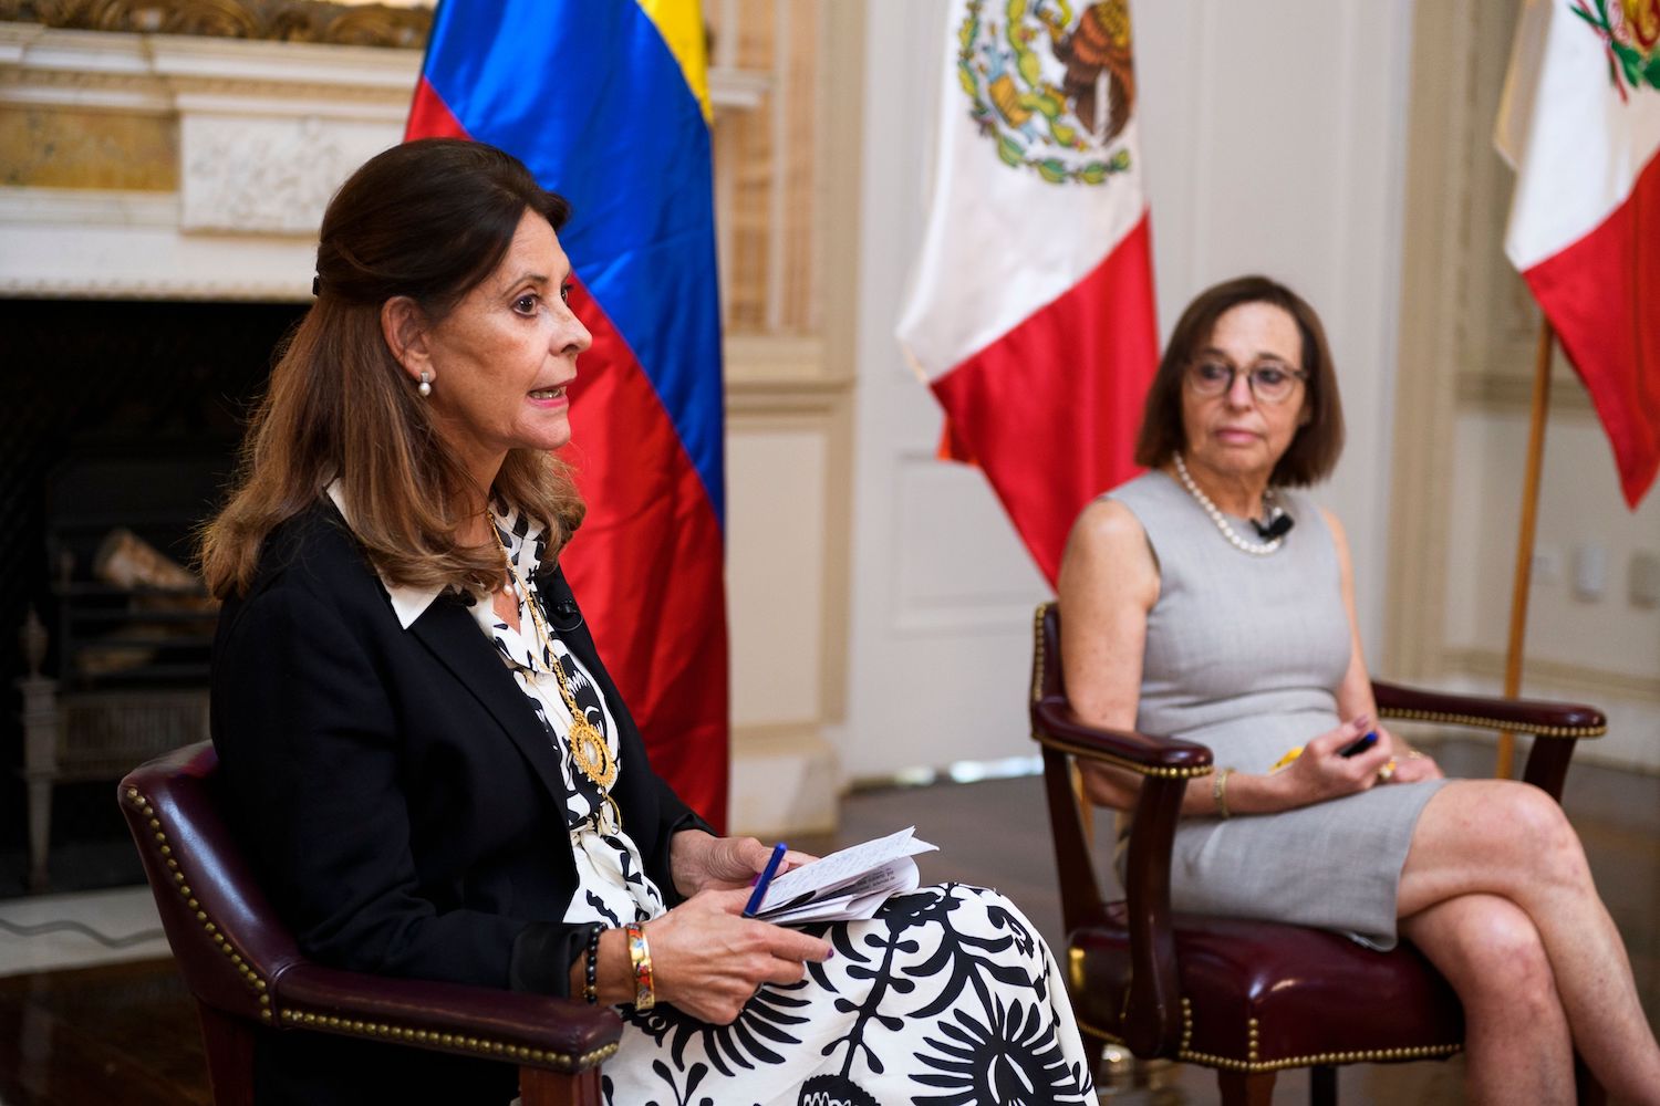
[[1472, 1101], [1572, 1101], [1572, 1040], [1615, 1099], [1660, 1106], [1660, 1046], [1630, 960], [1544, 791], [1443, 788], [1413, 832], [1399, 914], [1464, 1003]]

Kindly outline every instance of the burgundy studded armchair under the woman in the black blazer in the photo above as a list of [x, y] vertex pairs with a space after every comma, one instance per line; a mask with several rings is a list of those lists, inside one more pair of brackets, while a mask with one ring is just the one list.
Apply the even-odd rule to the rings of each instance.
[[219, 814], [217, 764], [204, 741], [133, 769], [118, 791], [196, 997], [214, 1103], [254, 1101], [254, 1026], [262, 1025], [516, 1063], [525, 1106], [599, 1106], [599, 1065], [622, 1033], [611, 1010], [305, 960]]

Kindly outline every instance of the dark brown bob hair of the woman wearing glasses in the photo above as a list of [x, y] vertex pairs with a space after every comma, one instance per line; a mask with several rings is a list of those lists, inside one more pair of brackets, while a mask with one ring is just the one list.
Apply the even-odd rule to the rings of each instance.
[[1320, 325], [1315, 308], [1296, 292], [1268, 277], [1225, 280], [1200, 292], [1182, 312], [1147, 390], [1147, 408], [1135, 439], [1135, 464], [1159, 468], [1187, 448], [1187, 429], [1182, 424], [1182, 383], [1187, 378], [1187, 365], [1210, 342], [1217, 320], [1240, 303], [1273, 303], [1296, 322], [1296, 330], [1303, 337], [1301, 368], [1308, 373], [1303, 386], [1303, 420], [1291, 444], [1273, 466], [1268, 483], [1280, 488], [1306, 488], [1320, 483], [1336, 468], [1343, 453], [1343, 401], [1338, 400], [1331, 347], [1326, 345], [1326, 330]]

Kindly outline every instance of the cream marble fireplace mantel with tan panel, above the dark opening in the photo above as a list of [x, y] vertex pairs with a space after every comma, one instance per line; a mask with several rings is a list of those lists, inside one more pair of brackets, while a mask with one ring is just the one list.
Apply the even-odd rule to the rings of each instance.
[[[0, 295], [309, 298], [324, 206], [402, 136], [420, 58], [0, 22]], [[764, 86], [710, 73], [717, 109]], [[123, 187], [100, 161], [134, 149], [158, 164]]]

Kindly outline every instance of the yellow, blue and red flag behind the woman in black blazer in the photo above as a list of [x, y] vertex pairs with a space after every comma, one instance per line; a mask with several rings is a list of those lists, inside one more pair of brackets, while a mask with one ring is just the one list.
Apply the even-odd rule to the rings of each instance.
[[405, 138], [506, 149], [571, 201], [559, 244], [594, 335], [563, 554], [652, 766], [727, 806], [720, 305], [696, 0], [443, 0]]

